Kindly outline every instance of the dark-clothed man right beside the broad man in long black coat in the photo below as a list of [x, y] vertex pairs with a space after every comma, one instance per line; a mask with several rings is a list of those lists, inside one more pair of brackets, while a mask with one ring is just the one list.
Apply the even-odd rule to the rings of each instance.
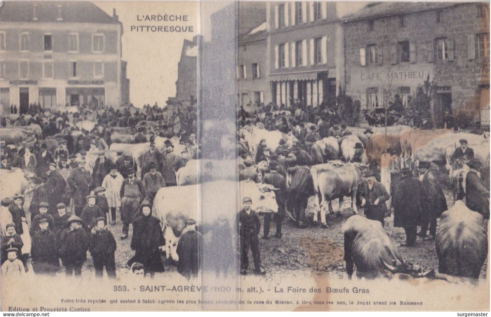
[[[430, 162], [420, 161], [418, 164], [418, 173], [421, 179], [421, 231], [418, 236], [429, 240], [436, 236], [436, 218], [443, 211], [447, 210], [447, 202], [441, 190], [440, 185], [436, 182], [435, 176], [430, 171]], [[430, 227], [430, 236], [426, 233]]]

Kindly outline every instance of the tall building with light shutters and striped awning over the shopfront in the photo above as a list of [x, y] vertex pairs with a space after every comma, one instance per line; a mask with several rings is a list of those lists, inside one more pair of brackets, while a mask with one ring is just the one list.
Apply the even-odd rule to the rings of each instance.
[[363, 4], [268, 2], [267, 68], [269, 100], [277, 105], [333, 103], [344, 82], [341, 18]]

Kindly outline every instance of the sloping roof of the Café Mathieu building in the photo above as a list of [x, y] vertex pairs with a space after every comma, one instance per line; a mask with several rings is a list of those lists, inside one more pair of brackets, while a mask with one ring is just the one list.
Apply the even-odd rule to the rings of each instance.
[[380, 18], [402, 13], [436, 10], [459, 4], [458, 2], [375, 2], [344, 18], [345, 22]]

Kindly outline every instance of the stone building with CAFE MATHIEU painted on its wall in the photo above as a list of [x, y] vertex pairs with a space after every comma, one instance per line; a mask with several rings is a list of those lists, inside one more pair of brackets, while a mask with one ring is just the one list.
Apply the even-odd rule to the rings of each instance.
[[489, 19], [484, 2], [369, 4], [344, 23], [347, 94], [365, 108], [396, 94], [407, 106], [430, 76], [439, 126], [445, 109], [489, 124]]

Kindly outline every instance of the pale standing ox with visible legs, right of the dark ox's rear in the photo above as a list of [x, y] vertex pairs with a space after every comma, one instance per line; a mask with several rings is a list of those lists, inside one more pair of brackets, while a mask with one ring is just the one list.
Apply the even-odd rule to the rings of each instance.
[[351, 196], [353, 211], [356, 209], [356, 192], [358, 183], [361, 181], [361, 172], [364, 165], [360, 163], [342, 163], [332, 161], [325, 164], [314, 165], [310, 168], [315, 192], [314, 222], [316, 223], [317, 212], [321, 212], [321, 224], [326, 227], [326, 213], [333, 212], [331, 200], [339, 198], [339, 207], [343, 204], [344, 196]]

